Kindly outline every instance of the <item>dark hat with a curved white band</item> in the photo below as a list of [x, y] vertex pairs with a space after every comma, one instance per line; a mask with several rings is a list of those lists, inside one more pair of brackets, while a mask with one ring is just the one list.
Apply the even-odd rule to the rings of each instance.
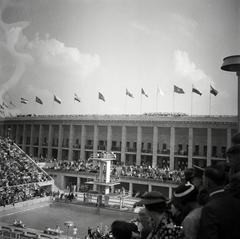
[[192, 198], [197, 199], [198, 190], [190, 183], [179, 185], [173, 193], [173, 201], [184, 204], [186, 202], [192, 201]]

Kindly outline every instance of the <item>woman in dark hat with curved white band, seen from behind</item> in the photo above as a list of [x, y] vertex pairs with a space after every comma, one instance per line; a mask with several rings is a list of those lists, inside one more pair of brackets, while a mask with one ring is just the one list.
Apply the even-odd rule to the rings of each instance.
[[197, 188], [190, 183], [179, 185], [173, 193], [173, 201], [182, 206], [182, 227], [185, 239], [199, 238], [202, 206], [198, 204], [197, 196]]

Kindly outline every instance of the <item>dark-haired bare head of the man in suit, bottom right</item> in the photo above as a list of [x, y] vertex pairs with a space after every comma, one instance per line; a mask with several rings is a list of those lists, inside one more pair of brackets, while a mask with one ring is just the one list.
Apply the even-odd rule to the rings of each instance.
[[226, 172], [219, 165], [209, 166], [203, 174], [204, 189], [211, 193], [224, 188], [226, 180]]

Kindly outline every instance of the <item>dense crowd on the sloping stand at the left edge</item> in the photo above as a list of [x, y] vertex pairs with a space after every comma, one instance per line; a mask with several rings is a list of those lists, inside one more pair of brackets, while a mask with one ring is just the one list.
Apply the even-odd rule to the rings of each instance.
[[46, 195], [37, 185], [51, 177], [9, 138], [0, 138], [0, 206]]

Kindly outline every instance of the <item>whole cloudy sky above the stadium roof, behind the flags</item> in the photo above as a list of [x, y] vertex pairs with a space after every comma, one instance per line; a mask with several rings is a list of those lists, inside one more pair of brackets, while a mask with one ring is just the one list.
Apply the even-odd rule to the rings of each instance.
[[237, 114], [237, 76], [220, 67], [240, 54], [238, 0], [1, 0], [0, 14], [6, 116]]

